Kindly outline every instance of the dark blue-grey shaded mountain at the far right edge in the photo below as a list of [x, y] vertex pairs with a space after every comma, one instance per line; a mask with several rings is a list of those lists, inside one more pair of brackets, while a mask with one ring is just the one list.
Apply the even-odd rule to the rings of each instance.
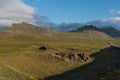
[[120, 37], [120, 31], [115, 29], [114, 27], [106, 27], [106, 28], [104, 27], [101, 28], [101, 30], [112, 37], [115, 38]]

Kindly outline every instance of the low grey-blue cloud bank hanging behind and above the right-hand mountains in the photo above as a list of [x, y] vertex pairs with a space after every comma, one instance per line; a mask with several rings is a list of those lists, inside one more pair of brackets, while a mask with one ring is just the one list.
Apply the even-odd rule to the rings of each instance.
[[60, 24], [57, 27], [57, 31], [72, 31], [80, 28], [84, 25], [94, 25], [98, 28], [104, 27], [114, 27], [120, 30], [120, 10], [110, 10], [110, 14], [114, 14], [115, 17], [106, 20], [93, 20], [86, 23], [70, 23], [70, 24]]

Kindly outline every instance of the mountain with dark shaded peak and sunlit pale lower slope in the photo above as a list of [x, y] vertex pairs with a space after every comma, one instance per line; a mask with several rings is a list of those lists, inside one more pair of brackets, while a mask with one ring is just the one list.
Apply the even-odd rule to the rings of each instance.
[[94, 38], [101, 38], [101, 39], [110, 38], [108, 34], [104, 33], [103, 31], [101, 31], [100, 29], [98, 29], [96, 26], [93, 26], [93, 25], [85, 25], [71, 32], [80, 32], [83, 35], [87, 35]]

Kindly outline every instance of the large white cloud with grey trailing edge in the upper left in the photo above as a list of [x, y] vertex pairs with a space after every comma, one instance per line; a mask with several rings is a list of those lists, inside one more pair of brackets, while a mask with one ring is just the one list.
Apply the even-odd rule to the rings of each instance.
[[10, 26], [12, 23], [23, 21], [35, 24], [38, 20], [47, 19], [39, 16], [33, 7], [22, 0], [0, 0], [0, 26]]

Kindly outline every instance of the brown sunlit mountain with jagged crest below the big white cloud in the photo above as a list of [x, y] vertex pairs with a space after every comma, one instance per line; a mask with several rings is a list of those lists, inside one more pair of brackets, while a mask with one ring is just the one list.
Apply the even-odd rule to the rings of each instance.
[[38, 27], [26, 22], [22, 23], [14, 23], [12, 24], [12, 27], [8, 30], [10, 32], [33, 32], [33, 33], [42, 33], [42, 34], [50, 34], [55, 32], [54, 30], [47, 28], [47, 27]]

